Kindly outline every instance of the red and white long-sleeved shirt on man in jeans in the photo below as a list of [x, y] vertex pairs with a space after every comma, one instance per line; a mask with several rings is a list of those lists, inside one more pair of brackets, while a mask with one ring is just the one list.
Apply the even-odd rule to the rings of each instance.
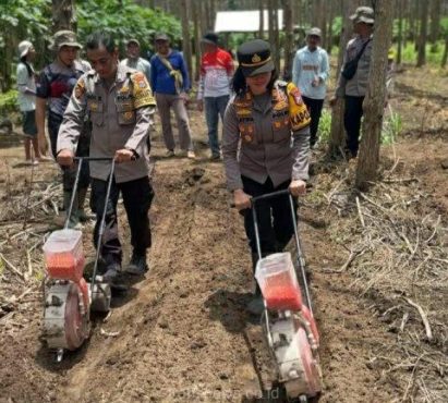
[[230, 95], [233, 60], [223, 49], [204, 53], [201, 59], [201, 80], [197, 99]]

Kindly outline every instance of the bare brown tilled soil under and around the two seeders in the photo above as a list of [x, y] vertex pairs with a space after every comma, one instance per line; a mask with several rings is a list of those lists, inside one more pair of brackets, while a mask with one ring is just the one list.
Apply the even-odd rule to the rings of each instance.
[[[411, 73], [405, 74], [400, 81], [403, 86], [409, 85]], [[397, 110], [405, 112], [410, 103], [403, 106], [402, 99], [409, 91], [397, 87]], [[446, 99], [443, 105], [446, 113]], [[164, 147], [155, 136], [150, 271], [129, 295], [116, 300], [107, 322], [95, 321], [92, 338], [80, 351], [55, 363], [39, 341], [38, 280], [24, 283], [8, 268], [1, 269], [0, 296], [20, 295], [29, 284], [33, 291], [12, 315], [0, 310], [0, 402], [281, 401], [269, 399], [274, 396], [269, 395], [273, 379], [261, 327], [244, 310], [253, 284], [242, 220], [229, 208], [222, 164], [210, 163], [199, 144], [205, 133], [197, 112], [192, 112], [192, 125], [199, 154], [194, 162], [162, 158]], [[436, 208], [446, 217], [448, 172], [440, 162], [448, 156], [447, 132], [409, 134], [396, 151], [400, 174], [419, 176], [420, 186], [432, 196], [422, 200], [427, 204], [423, 207]], [[19, 188], [29, 176], [28, 169], [13, 168], [22, 152], [17, 147], [0, 149], [0, 159], [8, 162], [11, 182]], [[386, 147], [384, 160], [390, 158], [391, 148]], [[5, 171], [1, 174], [5, 183]], [[53, 167], [40, 166], [35, 180], [51, 182], [56, 174]], [[399, 342], [397, 335], [374, 314], [375, 295], [360, 295], [351, 271], [337, 272], [347, 251], [332, 239], [326, 223], [344, 217], [328, 206], [313, 207], [313, 199], [323, 192], [324, 175], [313, 178], [314, 188], [300, 210], [322, 335], [325, 391], [320, 402], [399, 402], [407, 386], [372, 365], [380, 347]], [[0, 207], [7, 203], [11, 200], [3, 190]], [[126, 240], [124, 222], [122, 239]], [[88, 246], [90, 228], [85, 233]], [[92, 247], [87, 251], [92, 254]], [[129, 245], [125, 251], [129, 254]], [[21, 259], [11, 256], [11, 260], [24, 269]], [[101, 329], [119, 334], [107, 337]]]

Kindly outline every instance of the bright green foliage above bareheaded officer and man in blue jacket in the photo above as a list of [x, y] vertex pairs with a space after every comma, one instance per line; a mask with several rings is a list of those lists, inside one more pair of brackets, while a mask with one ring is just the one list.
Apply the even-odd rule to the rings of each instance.
[[181, 38], [178, 19], [160, 9], [140, 7], [131, 0], [78, 1], [76, 11], [82, 41], [96, 29], [113, 34], [121, 45], [129, 38], [136, 38], [143, 49], [153, 48], [154, 35], [158, 32], [167, 33], [174, 42]]

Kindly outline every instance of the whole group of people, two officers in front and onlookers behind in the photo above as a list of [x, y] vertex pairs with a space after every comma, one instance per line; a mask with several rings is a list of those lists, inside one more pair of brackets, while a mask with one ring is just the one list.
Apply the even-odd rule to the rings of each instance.
[[[359, 36], [348, 45], [337, 96], [346, 98], [348, 147], [355, 156], [359, 139], [355, 130], [362, 115], [372, 47], [373, 10], [359, 8], [352, 20]], [[254, 39], [241, 45], [234, 71], [231, 56], [218, 46], [218, 36], [209, 33], [203, 38], [197, 105], [206, 112], [211, 158], [220, 159], [222, 152], [228, 188], [244, 217], [254, 270], [257, 251], [251, 199], [278, 190], [289, 190], [293, 196], [304, 195], [310, 148], [318, 139], [318, 120], [329, 74], [328, 56], [319, 47], [318, 28], [312, 28], [306, 40], [306, 46], [294, 58], [293, 82], [287, 83], [278, 80], [268, 42]], [[82, 210], [84, 190], [92, 183], [92, 205], [97, 217], [95, 235], [100, 230], [100, 217], [106, 208], [102, 274], [112, 284], [123, 270], [117, 215], [120, 193], [133, 246], [125, 271], [143, 274], [148, 269], [146, 251], [152, 245], [148, 210], [154, 197], [148, 178], [149, 132], [156, 108], [168, 156], [175, 152], [170, 126], [172, 108], [178, 120], [181, 152], [195, 157], [185, 109], [191, 84], [184, 60], [180, 52], [170, 48], [167, 35], [157, 35], [155, 42], [157, 52], [150, 63], [140, 58], [136, 39], [128, 41], [128, 59], [119, 62], [112, 36], [96, 32], [86, 39], [85, 50], [90, 63], [87, 66], [77, 59], [81, 45], [74, 34], [60, 32], [52, 45], [55, 62], [44, 69], [36, 89], [31, 87], [31, 94], [37, 97], [38, 132], [44, 131], [45, 107], [48, 107], [51, 150], [63, 167], [64, 178], [66, 175], [65, 192], [73, 190], [75, 156], [116, 160], [109, 200], [105, 197], [111, 174], [110, 161], [90, 161], [89, 171], [85, 172], [86, 182], [81, 181], [77, 192], [77, 207]], [[32, 54], [31, 48], [24, 53], [25, 60]], [[353, 60], [356, 68], [348, 77], [344, 73]], [[219, 117], [222, 147], [217, 131]], [[38, 149], [37, 145], [35, 148]], [[293, 233], [289, 200], [268, 199], [258, 207], [264, 255], [283, 251]], [[262, 308], [257, 289], [250, 310], [257, 313]]]

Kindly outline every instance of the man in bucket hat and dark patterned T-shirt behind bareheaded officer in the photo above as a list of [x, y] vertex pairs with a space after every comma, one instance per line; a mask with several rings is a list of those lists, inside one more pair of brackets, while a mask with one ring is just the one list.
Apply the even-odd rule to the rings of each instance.
[[[76, 40], [76, 35], [71, 30], [57, 32], [49, 49], [55, 52], [56, 58], [51, 64], [44, 68], [37, 82], [36, 124], [38, 133], [44, 135], [46, 110], [48, 109], [48, 133], [50, 135], [51, 152], [56, 158], [58, 132], [64, 111], [77, 78], [87, 72], [90, 66], [87, 62], [77, 60], [81, 45]], [[89, 122], [84, 123], [76, 151], [77, 156], [88, 156]], [[82, 168], [77, 188], [77, 204], [74, 204], [73, 213], [70, 217], [71, 227], [76, 227], [80, 220], [85, 221], [88, 219], [84, 212], [84, 202], [90, 176], [88, 164], [85, 163]], [[75, 172], [76, 168], [74, 167], [63, 168], [63, 206], [65, 212], [69, 211]], [[57, 223], [63, 225], [65, 217], [60, 216]]]

